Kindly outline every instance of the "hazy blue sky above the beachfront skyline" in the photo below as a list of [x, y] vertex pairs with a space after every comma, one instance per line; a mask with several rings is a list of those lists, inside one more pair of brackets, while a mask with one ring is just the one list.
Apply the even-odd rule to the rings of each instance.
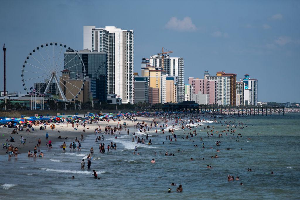
[[[0, 45], [9, 92], [21, 91], [22, 64], [47, 42], [83, 48], [83, 26], [134, 30], [134, 71], [162, 47], [184, 58], [184, 78], [204, 70], [258, 79], [258, 100], [300, 102], [300, 1], [2, 1]], [[3, 51], [0, 56], [3, 91]], [[298, 88], [298, 89], [297, 89]]]

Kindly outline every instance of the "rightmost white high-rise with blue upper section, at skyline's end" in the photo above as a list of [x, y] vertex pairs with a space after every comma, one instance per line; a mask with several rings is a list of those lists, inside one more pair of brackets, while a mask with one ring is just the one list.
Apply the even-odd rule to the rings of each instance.
[[257, 106], [257, 79], [250, 79], [249, 74], [245, 74], [243, 82], [245, 83], [245, 104]]

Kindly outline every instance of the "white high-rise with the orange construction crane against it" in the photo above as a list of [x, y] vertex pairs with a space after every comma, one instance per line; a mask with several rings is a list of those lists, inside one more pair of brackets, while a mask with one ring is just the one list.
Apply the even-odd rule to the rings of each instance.
[[[150, 65], [154, 67], [161, 67], [162, 57], [160, 55], [150, 56]], [[177, 76], [177, 102], [184, 100], [184, 60], [183, 58], [170, 57], [169, 55], [164, 56], [164, 71], [169, 76]]]

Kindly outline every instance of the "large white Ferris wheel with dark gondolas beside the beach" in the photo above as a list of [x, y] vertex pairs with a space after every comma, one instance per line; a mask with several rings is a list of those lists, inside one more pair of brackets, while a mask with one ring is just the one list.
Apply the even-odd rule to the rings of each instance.
[[62, 43], [44, 43], [29, 53], [22, 66], [22, 82], [27, 94], [74, 101], [85, 82], [81, 56]]

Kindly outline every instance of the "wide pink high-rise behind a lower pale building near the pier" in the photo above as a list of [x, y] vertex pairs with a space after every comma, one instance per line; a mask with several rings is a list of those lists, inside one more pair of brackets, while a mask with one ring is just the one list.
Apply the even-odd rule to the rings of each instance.
[[217, 81], [189, 77], [188, 83], [193, 86], [193, 94], [198, 94], [199, 91], [209, 94], [209, 104], [217, 104]]

